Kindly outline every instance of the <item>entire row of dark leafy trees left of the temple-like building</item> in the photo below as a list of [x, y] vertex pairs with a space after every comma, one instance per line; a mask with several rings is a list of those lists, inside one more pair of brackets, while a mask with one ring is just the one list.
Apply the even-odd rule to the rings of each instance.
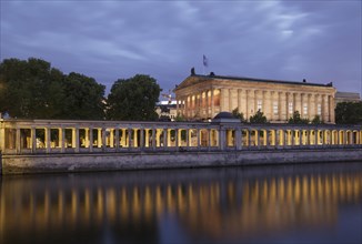
[[62, 73], [41, 59], [0, 63], [0, 113], [18, 119], [157, 120], [161, 89], [155, 79], [137, 74], [114, 81], [111, 92], [93, 78]]

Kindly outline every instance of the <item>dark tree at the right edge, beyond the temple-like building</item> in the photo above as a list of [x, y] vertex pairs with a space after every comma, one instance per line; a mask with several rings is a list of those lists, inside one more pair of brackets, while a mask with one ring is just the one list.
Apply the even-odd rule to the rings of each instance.
[[335, 106], [335, 123], [361, 124], [362, 102], [341, 102]]

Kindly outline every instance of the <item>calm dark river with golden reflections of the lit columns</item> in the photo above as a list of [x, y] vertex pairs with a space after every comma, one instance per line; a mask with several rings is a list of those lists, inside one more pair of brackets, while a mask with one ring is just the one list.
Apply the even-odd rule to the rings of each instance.
[[2, 176], [0, 243], [362, 243], [362, 162]]

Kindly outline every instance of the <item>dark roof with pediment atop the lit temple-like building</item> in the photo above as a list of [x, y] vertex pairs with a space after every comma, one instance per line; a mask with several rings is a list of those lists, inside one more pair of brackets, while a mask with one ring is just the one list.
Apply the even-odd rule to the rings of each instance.
[[[193, 80], [191, 82], [187, 82], [189, 80]], [[265, 82], [265, 83], [281, 83], [281, 84], [296, 84], [296, 85], [313, 85], [313, 87], [333, 87], [332, 82], [328, 84], [321, 83], [310, 83], [305, 80], [303, 81], [283, 81], [283, 80], [270, 80], [270, 79], [259, 79], [259, 78], [247, 78], [247, 77], [228, 77], [228, 75], [215, 75], [212, 72], [209, 75], [202, 74], [191, 74], [184, 81], [181, 82], [174, 90], [182, 89], [184, 87], [189, 87], [191, 84], [198, 83], [198, 81], [205, 81], [205, 80], [233, 80], [233, 81], [250, 81], [250, 82]]]

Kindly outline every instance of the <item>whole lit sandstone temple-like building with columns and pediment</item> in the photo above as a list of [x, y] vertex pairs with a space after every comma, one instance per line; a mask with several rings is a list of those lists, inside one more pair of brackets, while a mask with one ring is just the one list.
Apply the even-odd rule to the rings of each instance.
[[259, 110], [268, 121], [284, 123], [299, 111], [301, 118], [319, 115], [334, 123], [336, 90], [329, 84], [191, 73], [174, 89], [178, 114], [188, 120], [212, 119], [238, 109], [249, 120]]

